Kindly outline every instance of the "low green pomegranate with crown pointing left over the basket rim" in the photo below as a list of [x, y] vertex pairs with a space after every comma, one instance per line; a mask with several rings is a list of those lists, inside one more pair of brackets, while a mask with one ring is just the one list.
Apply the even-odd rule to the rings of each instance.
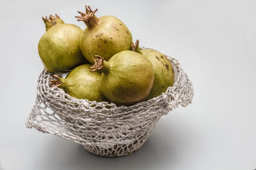
[[105, 102], [106, 98], [100, 91], [100, 72], [90, 72], [92, 64], [79, 65], [67, 74], [65, 79], [53, 75], [52, 86], [62, 88], [65, 93], [77, 99]]

